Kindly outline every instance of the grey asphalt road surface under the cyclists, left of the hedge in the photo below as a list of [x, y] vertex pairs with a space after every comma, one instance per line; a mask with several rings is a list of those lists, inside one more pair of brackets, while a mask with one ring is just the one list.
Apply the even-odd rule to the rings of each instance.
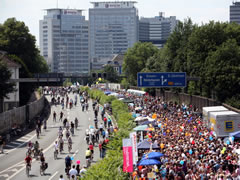
[[[50, 99], [50, 97], [47, 97]], [[74, 95], [70, 94], [70, 98], [74, 99]], [[57, 122], [53, 122], [53, 112], [56, 111], [57, 113]], [[59, 122], [59, 114], [63, 111], [64, 117], [67, 117], [70, 121], [74, 122], [75, 117], [79, 120], [79, 125], [77, 130], [75, 130], [75, 135], [72, 137], [73, 140], [73, 147], [72, 151], [69, 154], [67, 150], [67, 141], [66, 137], [64, 136], [64, 151], [62, 154], [58, 154], [58, 159], [54, 160], [53, 158], [53, 143], [57, 139], [58, 128], [62, 122]], [[100, 113], [99, 113], [100, 114]], [[33, 160], [32, 168], [30, 171], [29, 179], [59, 179], [60, 174], [64, 175], [64, 179], [67, 179], [65, 175], [65, 157], [69, 154], [70, 157], [73, 157], [74, 164], [76, 164], [77, 160], [80, 160], [80, 166], [86, 164], [85, 160], [85, 151], [87, 149], [85, 138], [85, 130], [89, 128], [90, 125], [94, 125], [93, 122], [94, 113], [92, 110], [92, 103], [89, 102], [89, 111], [82, 112], [81, 105], [79, 104], [79, 97], [78, 97], [78, 104], [77, 106], [70, 109], [62, 110], [60, 105], [52, 106], [51, 107], [51, 115], [47, 121], [47, 130], [42, 130], [40, 135], [40, 139], [36, 138], [35, 131], [32, 131], [23, 137], [9, 143], [5, 147], [4, 154], [0, 154], [0, 180], [4, 179], [28, 179], [26, 176], [26, 168], [24, 163], [24, 158], [26, 156], [26, 145], [29, 140], [35, 142], [38, 140], [40, 144], [40, 148], [43, 149], [44, 156], [46, 162], [48, 163], [48, 169], [45, 171], [45, 175], [40, 175], [40, 162], [37, 160]], [[100, 119], [100, 117], [98, 118]], [[98, 145], [95, 145], [94, 148], [94, 158], [93, 163], [99, 160], [99, 151]]]

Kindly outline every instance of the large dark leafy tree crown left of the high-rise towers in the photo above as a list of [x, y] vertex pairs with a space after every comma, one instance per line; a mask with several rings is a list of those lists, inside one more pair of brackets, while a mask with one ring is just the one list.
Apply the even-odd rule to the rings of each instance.
[[29, 33], [24, 22], [17, 21], [15, 18], [9, 18], [4, 24], [0, 24], [0, 49], [19, 57], [30, 73], [48, 70], [36, 47], [35, 37]]

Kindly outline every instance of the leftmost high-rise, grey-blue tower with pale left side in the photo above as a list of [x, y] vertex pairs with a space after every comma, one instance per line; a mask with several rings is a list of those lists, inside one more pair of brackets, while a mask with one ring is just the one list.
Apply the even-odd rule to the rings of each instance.
[[51, 72], [89, 73], [88, 21], [82, 10], [46, 11], [40, 20], [40, 50]]

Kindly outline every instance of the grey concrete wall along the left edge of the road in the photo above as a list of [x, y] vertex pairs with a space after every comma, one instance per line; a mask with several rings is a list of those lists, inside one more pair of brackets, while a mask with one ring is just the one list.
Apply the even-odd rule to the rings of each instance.
[[[44, 107], [44, 99], [42, 96], [39, 100], [30, 103], [29, 106], [29, 120], [31, 121], [38, 115]], [[24, 125], [27, 120], [26, 115], [27, 105], [19, 108], [14, 108], [0, 114], [0, 134], [8, 131], [14, 124]]]

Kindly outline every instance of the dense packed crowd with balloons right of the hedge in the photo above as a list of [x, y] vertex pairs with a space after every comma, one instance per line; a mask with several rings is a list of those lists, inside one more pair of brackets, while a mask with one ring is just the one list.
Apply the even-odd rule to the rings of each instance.
[[[239, 180], [240, 144], [234, 138], [217, 138], [212, 128], [191, 105], [163, 102], [159, 97], [129, 95], [133, 116], [150, 117], [154, 121], [144, 131], [144, 139], [157, 144], [156, 149], [139, 150], [133, 179], [163, 180]], [[137, 111], [136, 111], [137, 110]], [[141, 123], [139, 123], [141, 124]], [[138, 132], [138, 140], [141, 139]], [[140, 166], [142, 156], [161, 152], [157, 165]], [[147, 157], [147, 156], [146, 156]], [[154, 178], [153, 178], [154, 177]], [[151, 178], [149, 178], [151, 179]]]

